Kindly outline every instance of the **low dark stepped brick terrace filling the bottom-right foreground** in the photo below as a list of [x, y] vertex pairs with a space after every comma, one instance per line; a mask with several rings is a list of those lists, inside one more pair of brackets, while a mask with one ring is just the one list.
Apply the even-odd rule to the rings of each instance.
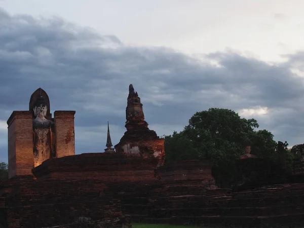
[[149, 198], [148, 205], [130, 203], [124, 207], [137, 222], [282, 227], [303, 222], [303, 190], [304, 184], [282, 184], [232, 194], [212, 191], [204, 195], [163, 194]]

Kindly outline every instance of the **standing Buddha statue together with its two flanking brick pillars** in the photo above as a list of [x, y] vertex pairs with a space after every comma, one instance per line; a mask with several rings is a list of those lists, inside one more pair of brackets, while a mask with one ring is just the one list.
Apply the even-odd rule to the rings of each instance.
[[55, 111], [52, 118], [49, 96], [41, 88], [31, 95], [28, 111], [13, 111], [7, 121], [9, 178], [32, 175], [34, 166], [48, 159], [75, 155], [74, 114]]

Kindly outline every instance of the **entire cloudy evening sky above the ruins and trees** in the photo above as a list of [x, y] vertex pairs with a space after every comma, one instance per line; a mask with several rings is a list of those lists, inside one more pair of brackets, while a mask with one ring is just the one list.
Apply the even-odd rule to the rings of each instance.
[[303, 143], [302, 9], [301, 0], [0, 0], [0, 161], [7, 119], [39, 87], [51, 112], [76, 110], [77, 154], [104, 150], [107, 121], [119, 142], [131, 83], [159, 136], [219, 107]]

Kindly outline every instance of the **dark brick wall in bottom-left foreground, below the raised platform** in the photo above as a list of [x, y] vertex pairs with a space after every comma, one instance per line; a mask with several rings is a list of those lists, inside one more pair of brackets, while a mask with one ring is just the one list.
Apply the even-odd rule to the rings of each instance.
[[[62, 227], [77, 226], [80, 217], [90, 218], [91, 227], [124, 221], [116, 227], [128, 225], [121, 212], [120, 200], [105, 195], [107, 188], [102, 180], [86, 181], [39, 181], [15, 182], [5, 199], [6, 219], [4, 227]], [[97, 226], [99, 224], [99, 226]], [[126, 226], [131, 227], [131, 226]]]

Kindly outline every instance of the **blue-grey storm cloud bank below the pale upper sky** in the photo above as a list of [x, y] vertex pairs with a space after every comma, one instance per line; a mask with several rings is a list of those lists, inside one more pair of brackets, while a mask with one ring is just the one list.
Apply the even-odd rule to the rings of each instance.
[[[289, 62], [269, 65], [227, 51], [200, 61], [169, 48], [128, 47], [116, 36], [60, 18], [0, 11], [0, 128], [13, 110], [28, 109], [31, 93], [42, 87], [51, 112], [77, 111], [77, 153], [103, 151], [107, 121], [113, 144], [125, 131], [132, 83], [146, 121], [159, 135], [182, 130], [196, 111], [210, 107], [239, 111], [261, 106], [269, 108], [268, 115], [246, 117], [256, 118], [279, 140], [300, 143], [303, 80], [290, 67], [302, 57], [291, 55]], [[0, 137], [0, 148], [7, 148], [7, 136]]]

